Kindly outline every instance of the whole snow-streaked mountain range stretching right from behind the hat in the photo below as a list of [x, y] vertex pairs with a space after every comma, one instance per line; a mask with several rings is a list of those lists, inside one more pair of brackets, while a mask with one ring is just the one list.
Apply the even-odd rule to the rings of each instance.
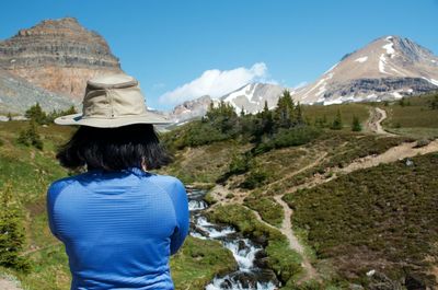
[[[176, 123], [203, 116], [211, 101], [230, 103], [238, 114], [242, 107], [253, 114], [263, 109], [265, 101], [274, 108], [285, 89], [249, 83], [219, 98], [186, 101], [175, 106], [171, 116]], [[344, 56], [313, 83], [289, 90], [302, 104], [396, 100], [438, 90], [438, 57], [407, 38], [385, 36]]]

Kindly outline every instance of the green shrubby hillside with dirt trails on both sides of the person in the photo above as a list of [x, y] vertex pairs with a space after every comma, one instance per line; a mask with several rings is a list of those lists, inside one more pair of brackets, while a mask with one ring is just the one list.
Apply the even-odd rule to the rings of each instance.
[[[367, 130], [376, 104], [299, 106], [284, 95], [275, 111], [240, 116], [221, 104], [161, 135], [175, 160], [157, 172], [211, 188], [209, 218], [261, 242], [283, 289], [436, 287], [438, 155], [420, 151], [436, 147], [429, 143], [438, 128], [434, 97], [379, 104], [388, 113], [384, 127], [396, 136]], [[364, 130], [353, 130], [354, 117]], [[16, 213], [15, 228], [24, 227], [16, 246], [24, 264], [2, 263], [0, 272], [31, 290], [69, 289], [67, 256], [47, 228], [45, 193], [70, 174], [57, 164], [55, 151], [74, 129], [36, 125], [34, 135], [30, 128], [27, 121], [0, 123], [2, 200]], [[420, 148], [412, 146], [416, 140]], [[401, 146], [400, 154], [419, 155], [343, 171]], [[285, 218], [292, 228], [283, 227]], [[290, 233], [302, 251], [290, 245]], [[203, 289], [234, 267], [219, 243], [192, 236], [171, 259], [176, 289]], [[367, 275], [371, 270], [376, 274]]]

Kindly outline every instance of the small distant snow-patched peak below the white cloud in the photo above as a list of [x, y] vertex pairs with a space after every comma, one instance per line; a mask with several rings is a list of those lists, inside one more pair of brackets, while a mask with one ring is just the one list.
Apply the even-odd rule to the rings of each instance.
[[274, 108], [284, 88], [277, 84], [250, 83], [220, 97], [220, 100], [230, 103], [237, 113], [240, 113], [242, 107], [245, 113], [256, 113], [263, 109], [265, 101], [267, 101], [269, 108]]

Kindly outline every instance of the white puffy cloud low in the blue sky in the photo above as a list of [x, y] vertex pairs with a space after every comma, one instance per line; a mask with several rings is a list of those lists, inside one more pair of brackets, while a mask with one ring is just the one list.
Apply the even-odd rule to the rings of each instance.
[[203, 95], [220, 97], [250, 82], [275, 83], [273, 80], [267, 80], [267, 67], [264, 62], [254, 63], [250, 69], [241, 67], [222, 71], [206, 70], [199, 78], [161, 95], [159, 102], [178, 104]]

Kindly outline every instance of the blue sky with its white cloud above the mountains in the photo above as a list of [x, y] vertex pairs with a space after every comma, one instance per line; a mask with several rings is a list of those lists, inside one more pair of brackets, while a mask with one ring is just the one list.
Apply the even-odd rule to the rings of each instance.
[[2, 3], [0, 38], [74, 16], [105, 37], [149, 106], [170, 109], [247, 81], [312, 82], [383, 35], [437, 55], [437, 15], [438, 0], [15, 0]]

